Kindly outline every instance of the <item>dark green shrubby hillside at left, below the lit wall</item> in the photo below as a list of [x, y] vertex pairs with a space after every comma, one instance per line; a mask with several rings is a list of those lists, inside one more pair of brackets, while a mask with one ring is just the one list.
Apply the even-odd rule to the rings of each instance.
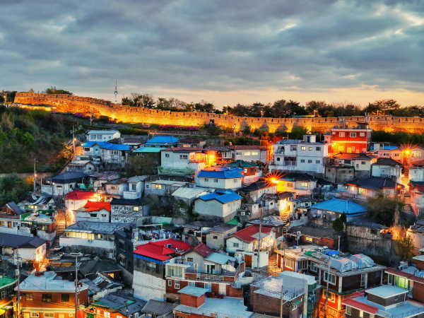
[[0, 106], [0, 173], [57, 172], [71, 158], [72, 124], [43, 110]]

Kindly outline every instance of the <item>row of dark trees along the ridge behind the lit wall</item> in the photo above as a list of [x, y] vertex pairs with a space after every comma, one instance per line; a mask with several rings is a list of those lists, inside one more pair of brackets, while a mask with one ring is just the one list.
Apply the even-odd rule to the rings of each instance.
[[392, 99], [376, 100], [367, 106], [355, 105], [352, 102], [327, 103], [322, 100], [311, 100], [305, 105], [294, 100], [276, 100], [273, 104], [254, 102], [252, 105], [224, 106], [218, 110], [213, 102], [184, 102], [177, 98], [155, 98], [151, 94], [131, 93], [122, 98], [122, 105], [131, 107], [145, 107], [158, 110], [171, 110], [173, 112], [209, 112], [216, 114], [230, 114], [238, 117], [272, 117], [291, 118], [293, 116], [314, 115], [316, 117], [351, 117], [364, 116], [365, 114], [392, 115], [396, 117], [420, 117], [424, 114], [424, 107], [411, 105], [401, 107]]

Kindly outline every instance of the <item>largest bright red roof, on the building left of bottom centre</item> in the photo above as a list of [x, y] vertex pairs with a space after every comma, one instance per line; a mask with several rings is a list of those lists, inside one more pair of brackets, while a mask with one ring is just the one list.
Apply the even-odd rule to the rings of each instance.
[[[167, 247], [168, 244], [171, 245], [171, 248]], [[192, 247], [192, 245], [186, 242], [169, 239], [139, 245], [134, 253], [145, 257], [151, 257], [152, 259], [158, 259], [159, 261], [165, 261], [167, 259], [172, 259], [173, 254], [177, 252], [175, 249], [187, 250], [190, 247]]]

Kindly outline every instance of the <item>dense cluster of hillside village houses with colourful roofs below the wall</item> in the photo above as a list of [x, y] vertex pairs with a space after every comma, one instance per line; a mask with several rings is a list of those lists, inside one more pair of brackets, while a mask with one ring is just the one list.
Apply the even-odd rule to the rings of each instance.
[[[424, 211], [419, 146], [372, 143], [367, 123], [346, 121], [324, 140], [306, 134], [268, 146], [142, 137], [92, 130], [83, 153], [42, 180], [41, 194], [0, 208], [1, 264], [16, 266], [19, 253], [26, 274], [24, 318], [73, 317], [76, 278], [73, 318], [123, 318], [126, 304], [129, 318], [324, 318], [325, 307], [332, 318], [420, 314], [422, 257], [408, 266], [396, 251], [378, 252], [385, 242], [394, 250], [395, 231], [365, 207], [382, 192], [405, 200], [411, 218]], [[158, 166], [130, 175], [136, 155], [157, 156]], [[424, 253], [423, 229], [418, 219], [407, 231], [415, 255]]]

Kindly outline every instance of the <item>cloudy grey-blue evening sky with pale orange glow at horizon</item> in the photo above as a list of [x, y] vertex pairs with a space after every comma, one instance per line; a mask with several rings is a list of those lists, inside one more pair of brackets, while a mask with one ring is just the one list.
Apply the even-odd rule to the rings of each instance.
[[0, 90], [424, 106], [422, 0], [1, 1]]

